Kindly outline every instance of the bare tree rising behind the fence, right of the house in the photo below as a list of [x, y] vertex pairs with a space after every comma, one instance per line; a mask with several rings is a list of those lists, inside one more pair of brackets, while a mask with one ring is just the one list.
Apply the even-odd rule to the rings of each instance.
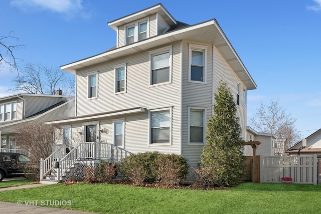
[[268, 106], [261, 101], [260, 107], [256, 110], [254, 116], [249, 118], [250, 125], [259, 132], [273, 134], [277, 142], [282, 142], [282, 155], [301, 139], [295, 127], [296, 119], [280, 106], [278, 100], [271, 100]]

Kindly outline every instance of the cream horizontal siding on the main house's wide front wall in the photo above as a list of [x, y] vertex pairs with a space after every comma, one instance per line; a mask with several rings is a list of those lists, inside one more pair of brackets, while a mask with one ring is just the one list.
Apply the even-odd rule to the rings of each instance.
[[[123, 115], [101, 120], [101, 140], [112, 143], [112, 119], [125, 119], [125, 149], [137, 153], [159, 151], [180, 153], [181, 115], [181, 43], [176, 42], [158, 48], [172, 46], [172, 83], [149, 87], [149, 53], [144, 51], [118, 60], [102, 63], [77, 71], [77, 115], [108, 112], [133, 107], [147, 110], [172, 107], [172, 145], [148, 146], [148, 112]], [[126, 93], [114, 94], [114, 66], [125, 64]], [[98, 71], [98, 98], [87, 99], [87, 73]]]

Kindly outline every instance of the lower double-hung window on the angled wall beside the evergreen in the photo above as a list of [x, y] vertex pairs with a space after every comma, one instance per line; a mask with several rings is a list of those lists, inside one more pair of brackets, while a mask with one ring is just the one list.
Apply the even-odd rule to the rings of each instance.
[[188, 143], [205, 143], [206, 108], [188, 107]]

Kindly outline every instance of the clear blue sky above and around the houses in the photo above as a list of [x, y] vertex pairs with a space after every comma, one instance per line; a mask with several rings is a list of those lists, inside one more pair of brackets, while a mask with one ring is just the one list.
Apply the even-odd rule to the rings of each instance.
[[[278, 99], [303, 137], [321, 128], [321, 0], [8, 0], [0, 36], [13, 31], [14, 43], [26, 45], [15, 53], [21, 67], [57, 68], [115, 46], [107, 23], [158, 3], [190, 25], [218, 21], [258, 85], [247, 93], [248, 116], [260, 101]], [[10, 94], [15, 76], [0, 68], [0, 96]]]

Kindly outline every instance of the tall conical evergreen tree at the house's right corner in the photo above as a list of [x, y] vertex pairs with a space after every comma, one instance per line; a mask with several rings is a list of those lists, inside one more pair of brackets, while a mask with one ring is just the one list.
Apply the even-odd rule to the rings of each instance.
[[245, 157], [237, 106], [227, 84], [221, 80], [214, 94], [214, 115], [207, 126], [207, 144], [203, 148], [201, 164], [210, 169], [219, 186], [233, 185], [244, 174]]

